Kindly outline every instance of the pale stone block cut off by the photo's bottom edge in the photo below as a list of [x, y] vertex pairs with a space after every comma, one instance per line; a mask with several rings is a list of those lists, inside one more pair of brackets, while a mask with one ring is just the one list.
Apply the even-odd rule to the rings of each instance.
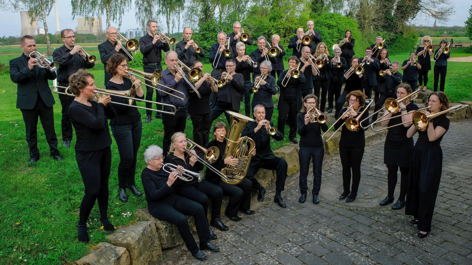
[[89, 255], [69, 264], [73, 265], [130, 265], [129, 252], [126, 248], [101, 242], [92, 247]]

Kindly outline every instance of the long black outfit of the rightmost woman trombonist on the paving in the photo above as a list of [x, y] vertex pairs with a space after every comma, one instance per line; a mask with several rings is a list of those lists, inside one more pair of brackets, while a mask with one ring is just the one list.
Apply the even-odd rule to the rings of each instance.
[[[432, 119], [434, 128], [449, 129], [447, 114]], [[418, 140], [413, 149], [410, 166], [409, 185], [406, 193], [405, 215], [413, 215], [418, 220], [418, 229], [423, 232], [431, 231], [431, 220], [434, 213], [436, 196], [442, 174], [441, 140], [428, 139], [428, 132], [418, 132]]]

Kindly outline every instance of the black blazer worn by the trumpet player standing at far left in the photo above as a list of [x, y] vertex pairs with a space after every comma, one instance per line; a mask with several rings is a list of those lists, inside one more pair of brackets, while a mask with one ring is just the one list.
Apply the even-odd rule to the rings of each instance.
[[17, 84], [17, 108], [33, 109], [38, 92], [46, 106], [52, 107], [56, 103], [48, 83], [48, 80], [56, 79], [56, 72], [39, 66], [30, 70], [24, 54], [10, 60], [10, 79]]

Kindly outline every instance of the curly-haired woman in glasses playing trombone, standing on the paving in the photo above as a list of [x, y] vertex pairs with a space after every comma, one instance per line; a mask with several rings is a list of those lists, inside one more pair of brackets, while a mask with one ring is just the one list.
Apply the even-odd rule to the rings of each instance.
[[[353, 58], [354, 59], [354, 58]], [[338, 129], [340, 126], [345, 126], [344, 121], [349, 116], [355, 118], [360, 113], [356, 112], [359, 107], [359, 112], [362, 112], [364, 107], [365, 100], [367, 96], [362, 93], [362, 91], [355, 90], [349, 92], [346, 96], [346, 101], [348, 105], [352, 107], [347, 107], [341, 109], [341, 122], [337, 122], [334, 125], [335, 129]], [[346, 111], [347, 110], [347, 111]], [[369, 116], [369, 110], [365, 111], [360, 121]], [[369, 125], [369, 121], [362, 123], [362, 126], [365, 127]], [[361, 181], [361, 162], [362, 156], [364, 155], [365, 147], [365, 135], [364, 130], [360, 129], [357, 132], [347, 130], [343, 128], [341, 130], [341, 138], [339, 140], [339, 157], [341, 157], [341, 164], [343, 166], [343, 193], [339, 196], [340, 200], [346, 199], [346, 202], [352, 202], [357, 197], [357, 190], [359, 189], [359, 182]], [[349, 184], [351, 183], [351, 170], [352, 170], [352, 188], [349, 190]]]

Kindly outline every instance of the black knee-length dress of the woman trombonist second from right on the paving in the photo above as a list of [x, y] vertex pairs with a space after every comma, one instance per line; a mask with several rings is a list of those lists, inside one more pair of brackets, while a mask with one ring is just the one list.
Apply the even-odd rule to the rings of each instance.
[[[406, 105], [406, 111], [410, 112], [419, 109], [413, 102]], [[396, 117], [401, 115], [401, 111], [392, 115]], [[391, 119], [388, 126], [401, 124], [402, 118]], [[399, 125], [388, 129], [384, 145], [384, 163], [385, 165], [394, 165], [399, 167], [410, 167], [411, 154], [413, 153], [413, 137], [406, 137], [406, 132], [410, 127]]]

